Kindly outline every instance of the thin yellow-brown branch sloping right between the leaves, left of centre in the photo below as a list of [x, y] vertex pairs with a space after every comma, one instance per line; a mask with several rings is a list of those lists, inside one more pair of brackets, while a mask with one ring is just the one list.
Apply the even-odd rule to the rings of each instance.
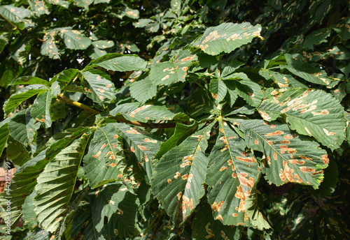
[[[78, 103], [75, 100], [71, 100], [70, 98], [66, 98], [65, 96], [62, 95], [62, 93], [59, 93], [59, 96], [57, 96], [59, 100], [62, 100], [64, 103], [68, 103], [70, 105], [79, 107], [83, 110], [87, 110], [88, 112], [92, 112], [94, 114], [100, 114], [101, 111], [94, 109], [92, 107], [89, 107], [83, 103]], [[176, 123], [141, 123], [139, 121], [129, 121], [125, 119], [123, 116], [116, 116], [113, 117], [113, 119], [116, 119], [117, 121], [121, 121], [123, 123], [128, 123], [134, 126], [139, 126], [139, 127], [144, 127], [144, 128], [175, 128]]]

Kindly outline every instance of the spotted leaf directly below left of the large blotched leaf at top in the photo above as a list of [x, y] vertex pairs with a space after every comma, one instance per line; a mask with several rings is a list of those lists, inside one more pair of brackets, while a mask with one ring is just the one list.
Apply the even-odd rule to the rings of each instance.
[[188, 67], [197, 60], [197, 56], [188, 50], [182, 50], [172, 61], [155, 63], [151, 68], [150, 79], [155, 85], [169, 86], [175, 82], [185, 82]]

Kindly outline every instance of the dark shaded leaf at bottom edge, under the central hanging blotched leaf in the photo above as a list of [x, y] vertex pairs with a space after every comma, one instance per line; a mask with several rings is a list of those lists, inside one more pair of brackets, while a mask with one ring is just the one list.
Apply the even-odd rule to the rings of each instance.
[[214, 220], [209, 204], [200, 205], [193, 219], [193, 239], [223, 239], [238, 240], [241, 237], [241, 227], [223, 225], [219, 220]]

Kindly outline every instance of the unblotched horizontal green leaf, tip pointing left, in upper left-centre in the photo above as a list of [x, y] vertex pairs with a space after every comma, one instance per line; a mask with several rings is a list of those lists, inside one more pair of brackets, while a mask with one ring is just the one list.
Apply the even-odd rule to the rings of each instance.
[[146, 68], [147, 62], [137, 55], [124, 55], [120, 53], [109, 53], [92, 61], [88, 66], [101, 66], [113, 71], [131, 71]]

